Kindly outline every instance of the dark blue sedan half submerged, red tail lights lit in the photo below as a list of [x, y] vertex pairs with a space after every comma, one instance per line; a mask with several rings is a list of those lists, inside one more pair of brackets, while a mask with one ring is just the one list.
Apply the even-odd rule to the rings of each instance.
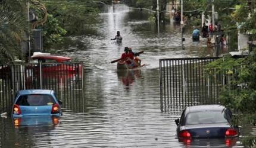
[[179, 139], [237, 137], [238, 128], [230, 126], [232, 112], [221, 105], [186, 107], [177, 124]]

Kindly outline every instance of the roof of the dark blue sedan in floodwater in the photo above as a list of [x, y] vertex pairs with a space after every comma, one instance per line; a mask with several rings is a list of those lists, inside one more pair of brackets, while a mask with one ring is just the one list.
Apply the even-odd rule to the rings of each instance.
[[198, 111], [223, 111], [225, 107], [223, 105], [212, 104], [212, 105], [195, 105], [192, 107], [186, 108], [186, 114], [189, 112], [198, 112]]

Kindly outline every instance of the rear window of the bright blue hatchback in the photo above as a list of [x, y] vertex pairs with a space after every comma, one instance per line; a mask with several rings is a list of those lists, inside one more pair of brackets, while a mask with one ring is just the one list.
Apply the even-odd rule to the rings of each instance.
[[51, 95], [45, 94], [21, 95], [16, 102], [17, 105], [21, 106], [43, 106], [55, 103]]

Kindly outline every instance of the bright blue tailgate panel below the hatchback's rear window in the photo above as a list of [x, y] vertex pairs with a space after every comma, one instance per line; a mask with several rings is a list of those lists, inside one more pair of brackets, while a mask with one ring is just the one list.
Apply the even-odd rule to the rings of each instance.
[[20, 106], [22, 115], [50, 115], [52, 105], [43, 106]]

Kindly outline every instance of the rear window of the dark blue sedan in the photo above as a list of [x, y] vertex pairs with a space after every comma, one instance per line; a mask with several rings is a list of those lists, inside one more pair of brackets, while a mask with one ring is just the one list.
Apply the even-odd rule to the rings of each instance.
[[229, 119], [230, 117], [227, 117], [224, 111], [191, 112], [186, 117], [186, 125], [228, 123]]

